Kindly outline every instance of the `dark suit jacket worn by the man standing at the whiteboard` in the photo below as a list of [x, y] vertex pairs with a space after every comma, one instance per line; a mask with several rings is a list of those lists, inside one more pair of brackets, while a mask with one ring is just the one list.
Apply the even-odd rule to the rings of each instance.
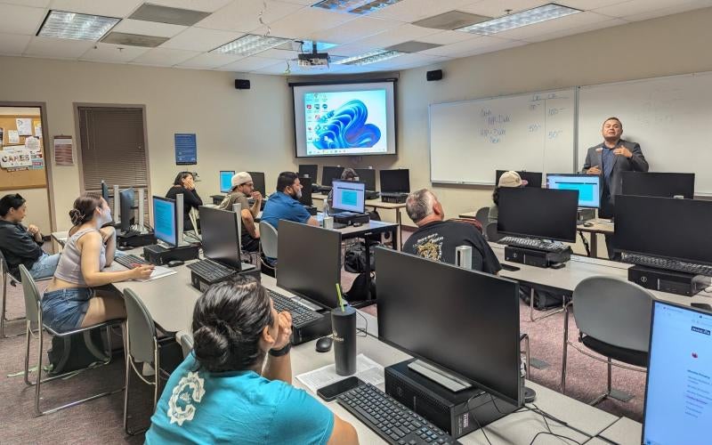
[[[615, 203], [616, 195], [619, 195], [621, 193], [623, 189], [622, 172], [647, 172], [649, 168], [648, 161], [645, 160], [645, 157], [643, 156], [643, 151], [640, 150], [640, 144], [637, 144], [635, 142], [628, 142], [626, 140], [621, 139], [618, 145], [626, 147], [628, 150], [630, 150], [631, 153], [633, 153], [633, 156], [631, 158], [626, 158], [625, 156], [620, 155], [614, 157], [613, 170], [611, 171], [611, 182], [610, 187], [608, 188], [611, 200], [609, 203], [603, 203], [602, 201], [601, 212], [599, 212], [599, 214], [602, 214], [602, 216], [604, 217], [613, 216], [612, 208], [606, 208], [607, 206], [605, 204], [610, 204], [612, 206]], [[601, 169], [601, 194], [603, 198], [603, 192], [605, 190], [605, 187], [603, 187], [603, 182], [605, 181], [605, 177], [603, 175], [603, 159], [602, 152], [597, 151], [597, 149], [602, 148], [602, 146], [602, 144], [598, 144], [588, 149], [586, 154], [586, 162], [584, 163], [583, 173], [586, 173], [587, 170], [592, 166], [598, 166]]]

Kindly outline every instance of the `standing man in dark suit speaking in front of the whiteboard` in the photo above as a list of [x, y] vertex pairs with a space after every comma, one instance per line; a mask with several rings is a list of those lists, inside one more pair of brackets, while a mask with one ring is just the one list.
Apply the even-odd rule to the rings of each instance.
[[[622, 172], [647, 172], [648, 161], [640, 145], [620, 139], [623, 124], [618, 117], [603, 121], [603, 143], [588, 149], [583, 172], [601, 177], [601, 208], [598, 215], [612, 218], [615, 214], [615, 197], [623, 188]], [[609, 257], [613, 257], [612, 237], [606, 236]]]

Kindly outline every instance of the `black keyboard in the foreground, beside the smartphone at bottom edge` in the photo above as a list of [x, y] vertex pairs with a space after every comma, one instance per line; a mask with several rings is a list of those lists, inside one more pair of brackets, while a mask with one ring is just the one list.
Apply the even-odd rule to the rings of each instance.
[[394, 401], [371, 384], [344, 392], [339, 405], [388, 443], [398, 445], [459, 443], [425, 417]]

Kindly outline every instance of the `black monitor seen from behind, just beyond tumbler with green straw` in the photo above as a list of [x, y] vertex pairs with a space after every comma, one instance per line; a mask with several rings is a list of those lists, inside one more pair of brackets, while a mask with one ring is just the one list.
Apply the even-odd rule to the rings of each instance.
[[322, 308], [336, 308], [341, 232], [281, 220], [277, 233], [277, 286]]

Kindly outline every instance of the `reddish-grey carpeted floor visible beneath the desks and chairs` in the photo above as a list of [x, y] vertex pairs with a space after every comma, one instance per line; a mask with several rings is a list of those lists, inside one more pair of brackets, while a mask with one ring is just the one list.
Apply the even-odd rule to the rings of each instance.
[[[344, 272], [345, 289], [351, 287], [354, 277], [354, 274]], [[44, 288], [44, 285], [40, 284], [40, 286]], [[24, 306], [20, 287], [8, 287], [8, 290], [8, 316], [12, 318], [22, 315]], [[375, 306], [370, 306], [367, 311], [377, 314]], [[522, 333], [528, 333], [530, 336], [531, 355], [549, 364], [543, 369], [533, 368], [530, 378], [538, 384], [555, 390], [559, 388], [561, 376], [562, 323], [562, 313], [531, 322], [529, 307], [522, 303]], [[23, 332], [24, 321], [12, 321], [6, 325], [8, 335]], [[571, 319], [570, 338], [573, 339], [577, 335], [578, 330]], [[46, 345], [45, 341], [45, 351], [48, 349]], [[4, 430], [2, 443], [142, 443], [142, 434], [127, 437], [123, 431], [123, 392], [52, 415], [36, 417], [33, 406], [34, 387], [28, 387], [23, 382], [21, 374], [13, 376], [23, 368], [24, 351], [24, 336], [0, 339], [0, 425]], [[567, 394], [579, 401], [591, 401], [605, 389], [605, 365], [572, 349], [569, 351]], [[32, 367], [36, 363], [34, 339], [30, 357], [30, 367]], [[92, 392], [120, 387], [123, 381], [124, 360], [121, 354], [118, 354], [107, 367], [85, 371], [65, 381], [45, 384], [42, 403], [46, 408], [67, 401], [68, 398], [78, 399]], [[599, 408], [617, 416], [640, 421], [643, 412], [645, 376], [635, 371], [614, 368], [613, 384], [615, 388], [633, 394], [634, 399], [627, 403], [603, 401]], [[152, 401], [150, 388], [134, 378], [130, 394], [132, 403], [129, 410], [133, 413], [131, 425], [147, 425]]]

